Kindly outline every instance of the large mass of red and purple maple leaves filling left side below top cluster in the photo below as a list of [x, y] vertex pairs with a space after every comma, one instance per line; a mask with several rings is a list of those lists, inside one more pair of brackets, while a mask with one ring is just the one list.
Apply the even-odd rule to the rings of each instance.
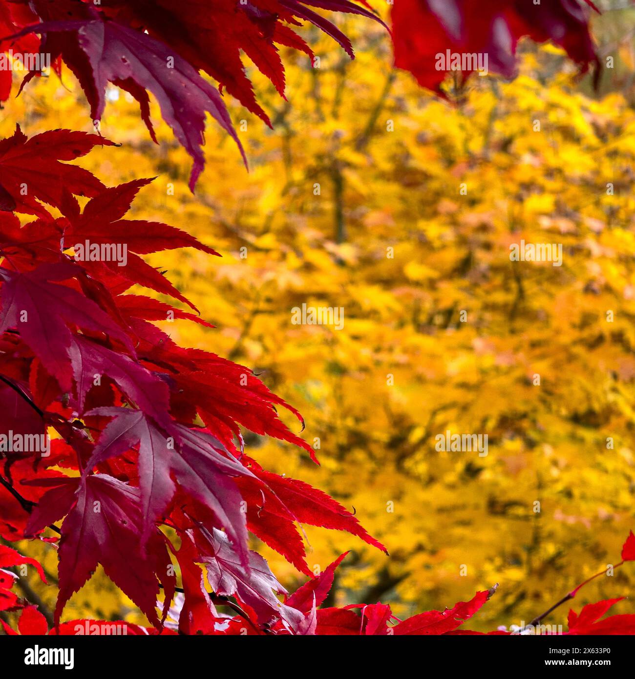
[[[241, 427], [312, 456], [276, 406], [302, 421], [295, 409], [248, 368], [181, 348], [151, 323], [170, 316], [202, 322], [197, 316], [126, 294], [137, 284], [194, 308], [141, 255], [179, 247], [216, 253], [175, 227], [125, 219], [149, 180], [106, 188], [62, 162], [107, 144], [68, 130], [26, 139], [20, 128], [0, 141], [0, 183], [12, 207], [0, 213], [3, 535], [37, 536], [63, 519], [56, 623], [102, 564], [161, 627], [177, 585], [176, 553], [183, 586], [194, 583], [187, 584], [186, 610], [198, 610], [195, 564], [202, 564], [215, 592], [239, 599], [258, 625], [277, 616], [297, 631], [304, 614], [278, 602], [275, 593], [284, 590], [247, 548], [248, 532], [305, 574], [303, 522], [384, 547], [326, 494], [243, 454]], [[90, 197], [83, 209], [75, 198], [82, 195]], [[22, 225], [16, 212], [35, 219]], [[47, 445], [50, 430], [57, 438]], [[180, 549], [161, 526], [176, 530]]]

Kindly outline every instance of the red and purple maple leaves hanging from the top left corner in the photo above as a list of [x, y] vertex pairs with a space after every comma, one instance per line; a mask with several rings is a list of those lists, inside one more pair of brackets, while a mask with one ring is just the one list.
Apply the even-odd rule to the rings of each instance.
[[[227, 90], [270, 125], [245, 74], [241, 51], [283, 97], [285, 69], [280, 48], [313, 57], [294, 30], [303, 21], [317, 26], [354, 56], [348, 38], [314, 12], [314, 7], [377, 19], [349, 0], [0, 0], [0, 52], [44, 54], [56, 69], [64, 62], [86, 93], [93, 121], [101, 120], [109, 82], [126, 90], [139, 102], [141, 116], [156, 141], [149, 115], [151, 92], [164, 120], [194, 160], [189, 181], [194, 190], [204, 166], [206, 113], [242, 152], [219, 90], [201, 73], [218, 81], [221, 91]], [[39, 47], [36, 35], [41, 36]], [[35, 75], [39, 71], [31, 70], [24, 82]], [[0, 71], [0, 101], [9, 96], [10, 88], [10, 71]]]

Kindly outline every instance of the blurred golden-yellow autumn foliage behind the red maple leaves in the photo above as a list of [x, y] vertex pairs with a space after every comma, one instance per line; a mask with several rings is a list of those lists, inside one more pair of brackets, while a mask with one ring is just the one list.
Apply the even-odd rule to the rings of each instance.
[[[156, 146], [114, 87], [101, 132], [122, 146], [82, 164], [107, 185], [156, 176], [134, 217], [222, 253], [150, 258], [217, 325], [163, 327], [255, 369], [300, 409], [321, 466], [255, 435], [249, 454], [355, 507], [388, 547], [305, 527], [312, 568], [350, 550], [329, 601], [381, 600], [403, 617], [499, 583], [471, 627], [520, 625], [617, 563], [635, 528], [635, 12], [594, 20], [615, 61], [597, 91], [559, 50], [523, 43], [517, 79], [448, 82], [448, 100], [391, 69], [379, 26], [340, 23], [357, 59], [305, 31], [321, 67], [285, 55], [288, 101], [250, 69], [274, 130], [228, 100], [249, 172], [210, 122], [192, 196], [189, 158], [158, 111]], [[68, 71], [33, 81], [0, 117], [0, 136], [16, 122], [29, 136], [92, 131]], [[521, 238], [562, 243], [562, 267], [512, 264]], [[293, 325], [303, 303], [344, 308], [343, 329]], [[437, 452], [448, 429], [487, 433], [488, 456]], [[256, 546], [287, 588], [302, 582]], [[20, 550], [55, 582], [54, 547]], [[50, 608], [55, 587], [31, 587]], [[634, 587], [627, 564], [575, 604]], [[67, 606], [77, 617], [145, 621], [103, 572]]]

